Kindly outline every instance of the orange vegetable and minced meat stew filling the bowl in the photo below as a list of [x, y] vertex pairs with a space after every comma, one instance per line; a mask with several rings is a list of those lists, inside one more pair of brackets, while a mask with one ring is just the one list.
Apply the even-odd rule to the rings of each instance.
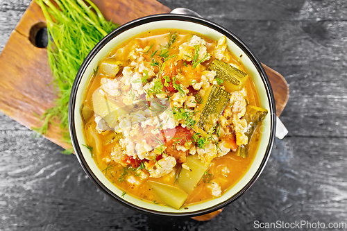
[[254, 160], [267, 114], [240, 59], [226, 37], [168, 29], [110, 51], [81, 108], [100, 171], [124, 195], [176, 209], [230, 189]]

